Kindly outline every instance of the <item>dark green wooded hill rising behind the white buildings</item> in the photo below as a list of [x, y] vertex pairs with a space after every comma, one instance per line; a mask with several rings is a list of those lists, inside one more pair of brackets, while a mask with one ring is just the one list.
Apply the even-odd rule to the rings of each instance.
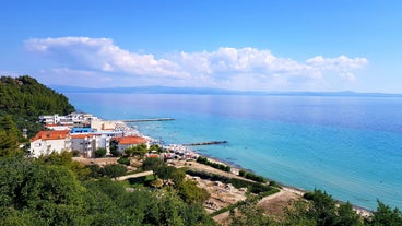
[[75, 111], [68, 98], [38, 83], [34, 78], [0, 78], [0, 117], [11, 115], [20, 130], [32, 135], [42, 129], [38, 116]]

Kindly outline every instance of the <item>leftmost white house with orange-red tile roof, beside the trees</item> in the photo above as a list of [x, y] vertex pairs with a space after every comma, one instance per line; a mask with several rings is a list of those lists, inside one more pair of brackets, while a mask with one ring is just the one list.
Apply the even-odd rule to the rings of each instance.
[[40, 131], [31, 139], [29, 153], [33, 157], [62, 151], [71, 151], [69, 130]]

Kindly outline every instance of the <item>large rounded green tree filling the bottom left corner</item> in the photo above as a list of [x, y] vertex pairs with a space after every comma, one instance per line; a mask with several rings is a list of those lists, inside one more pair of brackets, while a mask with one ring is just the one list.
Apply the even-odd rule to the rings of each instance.
[[86, 225], [85, 189], [71, 170], [22, 157], [0, 165], [0, 225]]

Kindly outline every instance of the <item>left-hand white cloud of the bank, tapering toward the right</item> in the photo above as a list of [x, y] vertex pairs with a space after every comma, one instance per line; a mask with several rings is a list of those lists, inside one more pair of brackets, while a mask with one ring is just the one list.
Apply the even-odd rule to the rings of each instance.
[[[137, 75], [157, 74], [186, 76], [178, 66], [153, 55], [139, 55], [120, 49], [109, 38], [61, 37], [28, 39], [27, 50], [48, 56], [74, 68], [86, 68], [105, 72], [123, 72]], [[66, 62], [66, 60], [68, 62]]]

